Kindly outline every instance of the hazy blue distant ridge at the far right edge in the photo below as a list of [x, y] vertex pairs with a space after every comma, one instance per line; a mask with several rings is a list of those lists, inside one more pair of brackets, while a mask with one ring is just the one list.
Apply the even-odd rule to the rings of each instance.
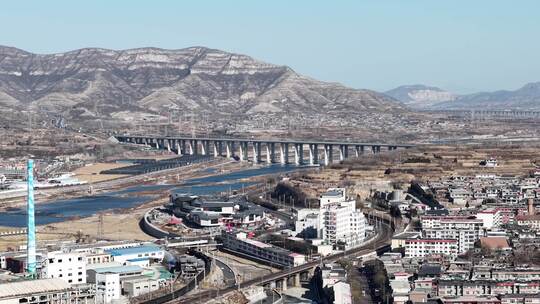
[[483, 92], [459, 96], [452, 102], [437, 103], [433, 109], [540, 110], [540, 82], [528, 83], [515, 91]]

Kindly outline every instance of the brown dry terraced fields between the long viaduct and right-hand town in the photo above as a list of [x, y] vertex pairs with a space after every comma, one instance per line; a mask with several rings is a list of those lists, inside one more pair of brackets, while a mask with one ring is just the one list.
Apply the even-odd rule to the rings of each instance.
[[[495, 157], [499, 166], [480, 161]], [[366, 198], [374, 190], [406, 189], [413, 180], [444, 176], [527, 175], [540, 166], [540, 143], [498, 146], [422, 146], [379, 155], [364, 155], [318, 171], [296, 173], [289, 183], [316, 198], [328, 187], [347, 187], [350, 195]]]

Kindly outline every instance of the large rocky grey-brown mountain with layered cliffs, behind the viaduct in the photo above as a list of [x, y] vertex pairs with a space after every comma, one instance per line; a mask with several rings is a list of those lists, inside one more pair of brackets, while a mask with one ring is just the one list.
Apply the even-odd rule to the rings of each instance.
[[388, 112], [384, 94], [205, 47], [87, 48], [39, 55], [0, 46], [0, 106], [77, 119], [146, 113]]

